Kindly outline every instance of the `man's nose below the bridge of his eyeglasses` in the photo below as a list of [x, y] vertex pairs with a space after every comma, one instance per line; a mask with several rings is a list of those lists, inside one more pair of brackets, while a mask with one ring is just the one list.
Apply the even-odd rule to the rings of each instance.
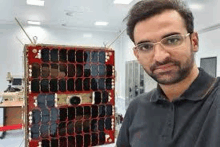
[[154, 61], [162, 63], [168, 57], [170, 57], [170, 53], [163, 47], [162, 44], [157, 43], [154, 45]]

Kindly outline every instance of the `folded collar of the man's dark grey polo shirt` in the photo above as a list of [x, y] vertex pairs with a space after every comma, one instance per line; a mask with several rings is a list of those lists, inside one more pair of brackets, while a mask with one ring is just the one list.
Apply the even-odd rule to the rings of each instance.
[[[180, 100], [191, 100], [198, 101], [202, 100], [213, 88], [215, 85], [216, 78], [210, 76], [203, 69], [199, 68], [199, 75], [190, 85], [190, 87], [177, 99], [174, 101]], [[150, 101], [157, 102], [159, 100], [167, 100], [163, 90], [160, 88], [159, 84], [157, 85], [157, 90], [152, 95]]]

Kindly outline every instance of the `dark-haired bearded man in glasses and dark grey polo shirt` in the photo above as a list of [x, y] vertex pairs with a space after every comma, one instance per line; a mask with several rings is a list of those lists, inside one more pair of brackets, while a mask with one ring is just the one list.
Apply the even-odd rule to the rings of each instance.
[[117, 147], [220, 147], [219, 79], [196, 66], [191, 11], [177, 0], [142, 0], [127, 33], [158, 86], [130, 103]]

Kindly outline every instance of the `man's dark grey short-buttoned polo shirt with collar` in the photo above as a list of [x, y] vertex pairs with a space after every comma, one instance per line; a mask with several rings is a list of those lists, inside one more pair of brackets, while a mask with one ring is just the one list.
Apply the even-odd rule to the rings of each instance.
[[117, 147], [220, 147], [219, 83], [200, 69], [173, 102], [159, 86], [139, 96], [127, 109]]

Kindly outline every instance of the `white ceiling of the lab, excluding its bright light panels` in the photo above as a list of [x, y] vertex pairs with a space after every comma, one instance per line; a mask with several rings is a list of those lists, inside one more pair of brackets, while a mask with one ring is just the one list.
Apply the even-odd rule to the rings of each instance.
[[[45, 6], [31, 6], [26, 0], [0, 0], [0, 24], [22, 25], [27, 20], [40, 21], [42, 26], [77, 28], [103, 31], [119, 31], [124, 28], [123, 19], [131, 6], [116, 5], [114, 0], [45, 0]], [[186, 0], [188, 4], [201, 4], [202, 9], [192, 9], [197, 29], [219, 23], [219, 0]], [[95, 26], [96, 21], [107, 21], [107, 26]]]

